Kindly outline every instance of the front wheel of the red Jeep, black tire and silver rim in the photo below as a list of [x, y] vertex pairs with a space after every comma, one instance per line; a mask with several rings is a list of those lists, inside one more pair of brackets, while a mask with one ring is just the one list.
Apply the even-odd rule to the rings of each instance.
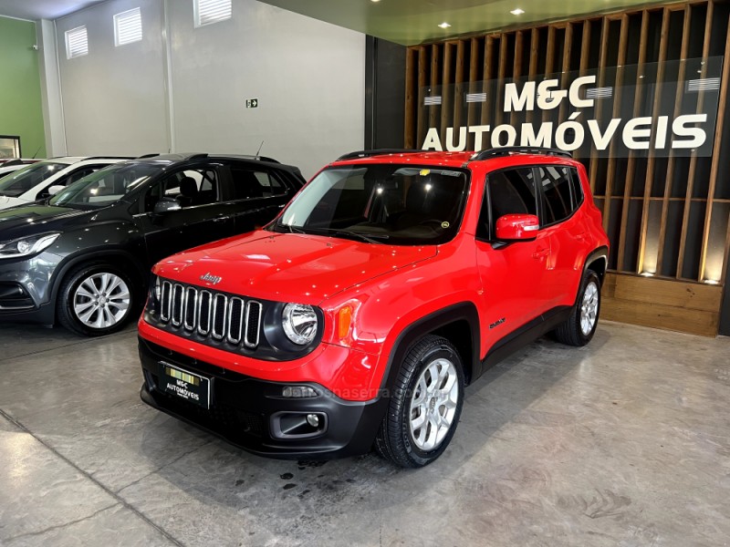
[[[433, 379], [431, 376], [433, 367], [440, 373], [446, 370], [448, 374], [448, 377], [444, 377], [441, 381], [441, 387], [452, 386], [448, 389], [450, 394], [448, 402], [436, 401], [435, 397], [432, 397], [428, 402], [424, 401], [421, 408], [412, 408], [412, 402], [421, 394], [419, 380], [422, 377], [424, 382], [429, 378]], [[421, 387], [423, 386], [425, 384]], [[423, 395], [423, 399], [427, 399], [425, 393]], [[464, 370], [456, 348], [440, 336], [424, 336], [412, 346], [401, 364], [395, 385], [392, 387], [388, 412], [375, 438], [376, 451], [383, 458], [391, 459], [404, 468], [428, 465], [442, 455], [454, 437], [463, 404]], [[420, 411], [422, 409], [425, 411]], [[414, 417], [416, 419], [423, 417], [424, 422], [427, 422], [424, 427], [416, 428], [421, 439], [416, 438], [412, 430]], [[434, 429], [429, 417], [438, 421], [443, 419], [443, 422], [448, 422], [448, 426], [443, 423]], [[438, 440], [430, 446], [431, 443], [424, 442], [423, 437]]]

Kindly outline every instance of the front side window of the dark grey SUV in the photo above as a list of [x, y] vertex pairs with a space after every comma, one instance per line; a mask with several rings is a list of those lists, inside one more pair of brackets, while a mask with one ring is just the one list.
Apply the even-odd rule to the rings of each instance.
[[214, 170], [183, 170], [172, 173], [151, 187], [144, 196], [144, 212], [154, 210], [154, 204], [168, 198], [180, 206], [193, 207], [219, 201], [220, 182]]

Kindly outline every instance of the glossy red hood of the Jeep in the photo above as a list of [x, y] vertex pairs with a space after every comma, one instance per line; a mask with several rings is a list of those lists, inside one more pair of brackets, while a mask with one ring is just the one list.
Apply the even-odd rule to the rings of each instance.
[[175, 254], [162, 277], [264, 300], [320, 304], [340, 291], [435, 256], [436, 247], [394, 246], [299, 233], [253, 232]]

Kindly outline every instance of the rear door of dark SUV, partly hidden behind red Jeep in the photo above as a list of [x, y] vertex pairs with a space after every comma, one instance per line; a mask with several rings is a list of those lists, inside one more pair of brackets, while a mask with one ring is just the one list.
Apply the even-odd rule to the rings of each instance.
[[283, 176], [265, 164], [231, 161], [226, 167], [231, 214], [238, 233], [272, 221], [295, 193]]

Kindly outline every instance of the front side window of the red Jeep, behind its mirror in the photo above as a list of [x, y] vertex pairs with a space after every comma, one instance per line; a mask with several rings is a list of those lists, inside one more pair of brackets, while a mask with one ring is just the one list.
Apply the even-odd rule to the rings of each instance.
[[490, 173], [482, 203], [476, 236], [491, 240], [496, 220], [506, 214], [537, 214], [535, 181], [531, 168], [508, 169]]

